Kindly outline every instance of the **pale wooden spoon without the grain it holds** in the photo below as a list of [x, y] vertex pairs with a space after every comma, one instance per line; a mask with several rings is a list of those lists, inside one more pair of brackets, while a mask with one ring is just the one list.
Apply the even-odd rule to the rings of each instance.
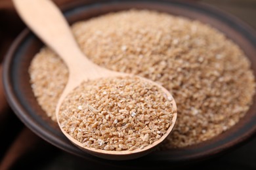
[[[116, 71], [110, 71], [99, 67], [89, 59], [85, 57], [85, 54], [81, 52], [77, 42], [75, 41], [68, 22], [66, 22], [62, 12], [49, 0], [13, 0], [14, 6], [20, 14], [20, 17], [24, 22], [33, 30], [33, 32], [43, 41], [50, 46], [58, 56], [60, 56], [66, 63], [69, 70], [68, 84], [66, 85], [64, 92], [62, 93], [58, 105], [56, 107], [56, 118], [58, 120], [58, 110], [63, 99], [72, 92], [75, 87], [79, 86], [81, 82], [85, 80], [93, 80], [97, 78], [107, 78], [112, 76], [134, 76], [127, 75], [125, 73], [119, 73]], [[140, 77], [141, 78], [141, 77]], [[152, 82], [146, 78], [141, 78], [144, 81], [148, 81], [151, 84], [158, 86], [167, 97], [171, 97], [171, 94], [165, 90], [156, 82]], [[173, 109], [177, 110], [175, 100], [171, 101]], [[158, 144], [160, 144], [169, 135], [177, 119], [177, 113], [173, 114], [173, 124], [167, 129], [165, 135], [163, 135], [158, 141], [146, 146], [143, 149], [135, 149], [132, 151], [108, 151], [99, 150], [95, 148], [83, 147], [80, 142], [71, 137], [62, 128], [62, 132], [68, 139], [76, 146], [86, 152], [89, 152], [100, 158], [106, 158], [110, 160], [128, 160], [143, 156], [152, 151]], [[60, 125], [59, 121], [58, 124]]]

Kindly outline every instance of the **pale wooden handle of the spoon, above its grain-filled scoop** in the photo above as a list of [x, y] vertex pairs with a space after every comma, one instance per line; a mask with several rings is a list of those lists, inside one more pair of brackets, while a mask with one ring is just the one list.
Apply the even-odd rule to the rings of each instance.
[[[85, 60], [62, 12], [50, 0], [12, 0], [18, 14], [37, 36], [73, 67], [79, 57]], [[75, 57], [75, 59], [73, 58]], [[87, 59], [89, 61], [89, 59]], [[74, 63], [75, 64], [75, 63]]]

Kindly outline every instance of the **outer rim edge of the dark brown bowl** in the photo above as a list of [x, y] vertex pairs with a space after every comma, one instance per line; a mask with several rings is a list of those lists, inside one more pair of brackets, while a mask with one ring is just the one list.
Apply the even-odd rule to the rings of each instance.
[[[97, 4], [104, 4], [104, 5], [108, 5], [109, 2], [112, 3], [133, 3], [135, 1], [97, 1], [96, 3], [91, 4], [88, 1], [75, 1], [74, 3], [70, 3], [69, 5], [65, 5], [64, 7], [62, 7], [62, 10], [64, 10], [64, 12], [68, 12], [69, 10], [75, 9], [77, 7], [79, 7], [78, 5], [97, 5]], [[210, 5], [205, 5], [205, 4], [199, 4], [199, 3], [192, 3], [192, 2], [184, 2], [184, 1], [166, 1], [166, 0], [160, 0], [160, 1], [144, 1], [144, 0], [140, 0], [139, 2], [145, 2], [145, 3], [169, 3], [170, 5], [172, 3], [177, 3], [180, 5], [184, 5], [184, 6], [190, 6], [199, 10], [208, 10], [208, 12], [210, 12], [210, 14], [214, 14], [217, 15], [218, 18], [223, 17], [223, 20], [226, 20], [227, 22], [231, 22], [231, 24], [236, 24], [236, 25], [240, 25], [240, 29], [244, 30], [246, 33], [249, 33], [249, 35], [252, 35], [250, 38], [250, 41], [253, 44], [256, 44], [256, 32], [254, 29], [252, 29], [248, 24], [246, 24], [245, 22], [243, 22], [242, 20], [240, 20], [239, 18], [237, 18], [236, 16], [233, 16], [232, 14], [228, 14], [227, 12], [224, 12], [223, 10], [220, 9], [216, 9], [215, 7], [211, 7]], [[9, 102], [9, 105], [11, 105], [11, 108], [14, 110], [15, 114], [18, 116], [18, 118], [20, 118], [20, 120], [26, 125], [28, 126], [34, 133], [36, 133], [37, 135], [39, 135], [39, 137], [43, 138], [45, 141], [54, 144], [55, 146], [57, 146], [58, 148], [62, 148], [62, 150], [66, 150], [67, 152], [70, 152], [72, 154], [81, 156], [81, 154], [77, 153], [76, 149], [70, 149], [66, 147], [66, 142], [60, 140], [60, 139], [56, 139], [53, 137], [53, 135], [51, 133], [49, 133], [49, 130], [41, 127], [39, 124], [37, 124], [37, 122], [34, 122], [33, 119], [28, 116], [26, 114], [26, 110], [24, 110], [24, 107], [22, 107], [22, 104], [20, 104], [20, 102], [18, 101], [18, 99], [15, 97], [15, 92], [12, 88], [12, 84], [11, 84], [11, 79], [9, 77], [9, 69], [10, 69], [10, 63], [11, 63], [11, 59], [12, 56], [14, 56], [18, 46], [20, 46], [20, 44], [22, 44], [22, 41], [24, 41], [24, 39], [30, 34], [31, 32], [29, 31], [28, 28], [24, 29], [24, 31], [22, 31], [22, 33], [20, 33], [20, 35], [18, 35], [18, 37], [15, 39], [15, 41], [12, 43], [11, 48], [9, 48], [9, 51], [7, 52], [7, 55], [5, 56], [4, 59], [4, 64], [3, 64], [3, 85], [4, 85], [4, 89], [5, 89], [5, 94], [7, 97], [7, 101]], [[179, 110], [178, 110], [178, 114], [179, 114]], [[255, 115], [256, 117], [256, 115]], [[214, 148], [213, 150], [208, 150], [207, 152], [194, 152], [191, 153], [190, 155], [186, 155], [184, 157], [179, 157], [179, 158], [172, 158], [172, 160], [168, 159], [168, 153], [163, 151], [161, 152], [161, 154], [159, 152], [153, 153], [154, 156], [149, 156], [147, 158], [150, 157], [155, 157], [155, 158], [159, 158], [158, 156], [162, 155], [161, 158], [165, 158], [163, 159], [164, 161], [171, 161], [171, 162], [182, 162], [182, 161], [193, 161], [193, 160], [204, 160], [206, 158], [211, 158], [212, 156], [217, 156], [217, 154], [221, 154], [224, 152], [227, 152], [228, 150], [231, 150], [232, 148], [234, 148], [235, 146], [241, 145], [242, 143], [246, 142], [247, 140], [249, 140], [251, 137], [253, 137], [253, 134], [256, 133], [256, 125], [251, 127], [251, 129], [249, 129], [249, 131], [247, 131], [247, 133], [245, 133], [244, 135], [237, 137], [235, 141], [232, 141], [232, 145], [228, 145], [229, 143], [223, 144], [221, 145], [221, 147], [219, 148]], [[198, 144], [199, 146], [200, 144]], [[181, 148], [182, 150], [190, 150], [190, 148], [193, 148], [193, 146], [188, 146], [185, 148]], [[180, 149], [177, 149], [178, 152]], [[90, 160], [95, 160], [94, 156], [91, 156], [89, 154], [84, 154], [83, 157], [90, 159]], [[155, 159], [154, 158], [154, 159]], [[98, 159], [98, 158], [96, 158]], [[143, 159], [143, 158], [142, 158]], [[154, 160], [153, 159], [153, 160]], [[152, 160], [152, 158], [150, 158], [150, 160]], [[102, 161], [102, 160], [100, 160]]]

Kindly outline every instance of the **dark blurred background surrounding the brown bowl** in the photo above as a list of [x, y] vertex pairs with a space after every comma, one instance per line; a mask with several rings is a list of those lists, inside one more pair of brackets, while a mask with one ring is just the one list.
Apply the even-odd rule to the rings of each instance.
[[[75, 0], [55, 0], [59, 5], [67, 5]], [[191, 0], [192, 1], [192, 0]], [[230, 12], [256, 29], [256, 0], [202, 0], [204, 3]], [[0, 0], [0, 63], [3, 61], [12, 41], [24, 29], [16, 14], [11, 0]], [[3, 93], [0, 64], [0, 169], [99, 169], [117, 168], [114, 163], [108, 165], [83, 160], [68, 154], [43, 141], [28, 129], [10, 109]], [[138, 163], [138, 169], [142, 169]], [[169, 169], [158, 165], [158, 169]], [[118, 168], [125, 169], [118, 165]], [[217, 158], [194, 163], [179, 169], [256, 169], [256, 136], [232, 152]], [[135, 167], [135, 169], [137, 169]], [[148, 168], [147, 168], [148, 169]]]

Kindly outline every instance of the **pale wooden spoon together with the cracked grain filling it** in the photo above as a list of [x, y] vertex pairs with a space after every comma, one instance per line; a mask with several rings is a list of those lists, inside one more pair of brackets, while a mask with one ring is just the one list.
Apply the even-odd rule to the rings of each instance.
[[171, 133], [177, 106], [165, 88], [90, 61], [52, 1], [13, 2], [28, 27], [68, 67], [68, 84], [58, 101], [56, 118], [72, 143], [100, 158], [129, 160], [148, 154]]

